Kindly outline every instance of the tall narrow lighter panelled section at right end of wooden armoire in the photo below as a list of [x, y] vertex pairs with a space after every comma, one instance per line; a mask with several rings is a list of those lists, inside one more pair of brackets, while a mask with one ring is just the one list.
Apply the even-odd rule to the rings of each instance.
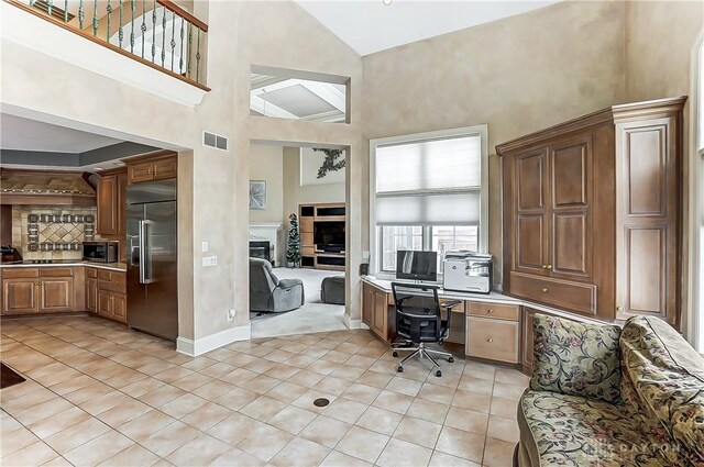
[[679, 325], [681, 113], [630, 120], [616, 125], [617, 318]]

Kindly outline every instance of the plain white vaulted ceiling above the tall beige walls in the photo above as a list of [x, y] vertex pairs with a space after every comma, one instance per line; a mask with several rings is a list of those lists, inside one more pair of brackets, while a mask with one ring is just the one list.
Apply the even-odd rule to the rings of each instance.
[[[295, 0], [360, 55], [557, 3], [543, 1]], [[389, 0], [385, 0], [389, 3]]]

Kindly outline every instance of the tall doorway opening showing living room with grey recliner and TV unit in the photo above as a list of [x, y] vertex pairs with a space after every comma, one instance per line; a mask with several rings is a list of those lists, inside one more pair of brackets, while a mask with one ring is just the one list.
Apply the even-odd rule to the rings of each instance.
[[348, 329], [348, 153], [250, 144], [252, 338]]

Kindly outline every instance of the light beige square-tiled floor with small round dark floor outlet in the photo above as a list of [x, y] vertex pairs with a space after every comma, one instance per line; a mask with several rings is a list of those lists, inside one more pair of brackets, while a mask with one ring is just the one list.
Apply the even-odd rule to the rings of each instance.
[[[403, 374], [369, 331], [241, 342], [198, 358], [96, 318], [2, 322], [3, 466], [510, 466], [513, 369]], [[330, 405], [312, 401], [327, 398]]]

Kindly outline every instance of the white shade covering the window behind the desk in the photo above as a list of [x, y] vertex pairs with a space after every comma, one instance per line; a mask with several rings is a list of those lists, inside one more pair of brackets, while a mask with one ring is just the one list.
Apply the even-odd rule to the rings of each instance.
[[376, 224], [479, 224], [481, 160], [479, 135], [378, 146]]

